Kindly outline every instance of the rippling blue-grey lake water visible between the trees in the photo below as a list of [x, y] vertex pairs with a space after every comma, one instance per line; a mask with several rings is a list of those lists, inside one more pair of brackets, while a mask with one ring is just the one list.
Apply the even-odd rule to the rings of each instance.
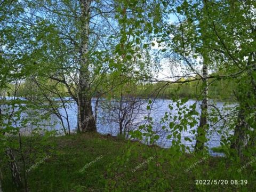
[[[196, 103], [196, 111], [200, 114], [201, 113], [201, 108], [200, 108], [200, 103], [196, 100], [188, 100], [186, 102], [186, 106], [191, 106], [194, 103]], [[210, 103], [213, 103], [213, 101], [210, 101]], [[165, 123], [161, 122], [162, 117], [164, 117], [166, 112], [170, 112], [172, 116], [177, 115], [178, 111], [176, 110], [177, 107], [175, 107], [172, 100], [168, 99], [156, 99], [154, 100], [153, 106], [150, 111], [150, 117], [153, 118], [153, 130], [157, 132], [157, 134], [160, 136], [160, 138], [157, 141], [157, 145], [164, 147], [164, 148], [169, 148], [172, 145], [172, 138], [171, 139], [166, 139], [167, 135], [170, 134], [170, 129], [169, 130], [163, 130], [162, 127], [165, 125], [166, 127], [169, 127], [170, 121], [167, 121]], [[132, 106], [133, 107], [133, 113], [129, 111], [125, 111], [124, 108], [126, 107], [131, 107], [129, 102], [127, 103], [122, 103], [123, 105], [123, 113], [127, 113], [124, 119], [124, 123], [128, 122], [128, 128], [130, 130], [138, 129], [139, 125], [142, 125], [145, 123], [145, 116], [148, 116], [149, 111], [147, 110], [147, 105], [148, 101], [147, 100], [142, 100], [137, 105]], [[173, 106], [173, 109], [170, 110], [169, 105]], [[214, 105], [219, 109], [222, 110], [225, 107], [231, 107], [234, 108], [235, 104], [233, 105], [228, 105], [225, 106], [223, 102], [215, 102]], [[6, 106], [1, 106], [1, 109], [6, 108]], [[95, 107], [95, 99], [92, 100], [92, 107], [94, 109]], [[131, 108], [132, 108], [131, 107]], [[109, 108], [114, 110], [109, 110]], [[98, 115], [97, 115], [97, 131], [101, 134], [111, 134], [113, 136], [117, 135], [119, 133], [119, 116], [120, 116], [120, 111], [118, 110], [120, 108], [120, 103], [115, 102], [115, 101], [107, 101], [107, 100], [100, 100], [99, 101], [99, 107], [98, 107]], [[77, 129], [77, 105], [75, 102], [68, 102], [66, 103], [66, 109], [67, 109], [67, 114], [68, 114], [68, 119], [69, 119], [69, 125], [71, 132], [75, 132]], [[209, 108], [209, 111], [211, 110], [211, 107]], [[45, 111], [40, 111], [40, 110], [35, 110], [35, 111], [29, 111], [29, 113], [23, 112], [21, 116], [35, 116], [38, 117], [39, 115], [42, 115], [45, 113]], [[66, 111], [64, 108], [59, 109], [59, 113], [63, 115], [63, 117], [66, 116]], [[222, 114], [225, 114], [227, 112], [222, 112]], [[122, 114], [122, 113], [121, 113]], [[197, 118], [197, 122], [199, 124], [199, 116], [195, 116]], [[28, 118], [29, 119], [29, 118]], [[131, 121], [129, 121], [129, 119]], [[59, 134], [63, 134], [63, 126], [60, 123], [60, 119], [56, 115], [50, 115], [50, 119], [48, 121], [43, 121], [41, 122], [41, 126], [43, 126], [44, 129], [47, 130], [58, 130]], [[63, 118], [63, 122], [65, 124], [65, 127], [67, 128], [67, 120]], [[174, 123], [179, 123], [179, 121], [175, 121]], [[207, 138], [209, 138], [209, 141], [206, 143], [207, 146], [210, 148], [210, 153], [214, 156], [219, 156], [222, 154], [219, 153], [214, 153], [211, 148], [212, 147], [218, 147], [220, 146], [220, 139], [221, 135], [225, 135], [228, 130], [225, 129], [225, 127], [221, 127], [223, 121], [220, 121], [219, 123], [213, 125], [210, 122], [210, 130], [207, 134]], [[26, 129], [34, 129], [33, 125], [29, 124], [29, 127], [26, 127]], [[21, 126], [19, 123], [13, 125], [13, 126]], [[188, 146], [191, 150], [193, 150], [195, 146], [195, 135], [192, 133], [192, 130], [196, 130], [198, 125], [194, 127], [187, 127], [187, 131], [182, 131], [181, 132], [181, 141], [183, 144]], [[37, 125], [38, 127], [38, 125]], [[23, 131], [25, 129], [23, 128]], [[218, 133], [217, 131], [220, 130], [221, 132]], [[27, 131], [27, 130], [26, 130]], [[229, 132], [230, 133], [230, 132]], [[185, 138], [190, 138], [192, 142], [190, 141], [185, 141]]]

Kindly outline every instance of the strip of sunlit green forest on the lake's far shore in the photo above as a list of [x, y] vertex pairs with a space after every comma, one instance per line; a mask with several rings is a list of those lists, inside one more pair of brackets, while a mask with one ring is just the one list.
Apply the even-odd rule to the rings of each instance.
[[[158, 99], [172, 99], [175, 97], [178, 98], [189, 98], [189, 99], [197, 99], [201, 82], [188, 82], [188, 83], [182, 83], [182, 81], [185, 81], [186, 79], [181, 79], [180, 84], [170, 84], [167, 86], [164, 86], [164, 83], [158, 82], [158, 83], [143, 83], [143, 84], [137, 84], [137, 83], [126, 83], [125, 84], [125, 90], [127, 93], [129, 93], [130, 97], [138, 97], [143, 99], [149, 99], [149, 98], [158, 98]], [[49, 86], [52, 82], [47, 82], [46, 84]], [[14, 86], [13, 84], [9, 84], [7, 86], [7, 89], [2, 90], [2, 97], [7, 96], [9, 93], [10, 96], [14, 95]], [[163, 89], [164, 86], [164, 89]], [[235, 102], [236, 98], [234, 95], [235, 90], [237, 90], [238, 84], [233, 81], [217, 81], [210, 83], [209, 85], [209, 99], [217, 100], [217, 101], [230, 101]], [[99, 89], [99, 88], [98, 88]], [[58, 90], [62, 97], [70, 97], [67, 87], [63, 84], [58, 85]], [[104, 90], [105, 94], [102, 94], [102, 98], [112, 98], [112, 99], [118, 99], [121, 97], [121, 92], [119, 90], [113, 90], [113, 91], [107, 91], [107, 87], [100, 87], [99, 90], [96, 90], [94, 94], [92, 94], [92, 97], [99, 97], [100, 91]], [[50, 91], [48, 91], [49, 95], [51, 97], [58, 98], [58, 94], [52, 94]], [[15, 93], [17, 97], [22, 98], [28, 98], [31, 99], [31, 97], [38, 97], [41, 99], [44, 99], [44, 95], [42, 94], [42, 90], [38, 89], [37, 85], [33, 83], [33, 81], [25, 81], [20, 84], [19, 89]]]

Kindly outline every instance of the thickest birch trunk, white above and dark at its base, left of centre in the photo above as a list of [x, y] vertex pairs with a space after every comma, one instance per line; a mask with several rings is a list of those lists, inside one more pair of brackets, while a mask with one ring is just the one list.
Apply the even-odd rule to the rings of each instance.
[[92, 111], [90, 93], [90, 71], [88, 62], [89, 53], [89, 20], [91, 0], [80, 0], [81, 6], [81, 47], [80, 47], [80, 69], [78, 83], [78, 126], [79, 131], [97, 131]]

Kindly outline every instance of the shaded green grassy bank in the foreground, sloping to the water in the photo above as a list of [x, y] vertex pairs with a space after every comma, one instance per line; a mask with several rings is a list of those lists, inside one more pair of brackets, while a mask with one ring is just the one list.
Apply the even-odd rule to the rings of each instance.
[[[256, 187], [255, 178], [247, 177], [246, 170], [243, 178], [230, 177], [231, 164], [224, 157], [177, 156], [173, 149], [98, 133], [49, 138], [45, 142], [54, 147], [46, 146], [41, 151], [45, 155], [33, 159], [26, 168], [30, 170], [29, 191], [253, 191]], [[3, 174], [3, 191], [19, 191], [6, 167]], [[199, 179], [238, 178], [247, 179], [248, 184], [196, 185]], [[165, 186], [159, 190], [162, 182]]]

